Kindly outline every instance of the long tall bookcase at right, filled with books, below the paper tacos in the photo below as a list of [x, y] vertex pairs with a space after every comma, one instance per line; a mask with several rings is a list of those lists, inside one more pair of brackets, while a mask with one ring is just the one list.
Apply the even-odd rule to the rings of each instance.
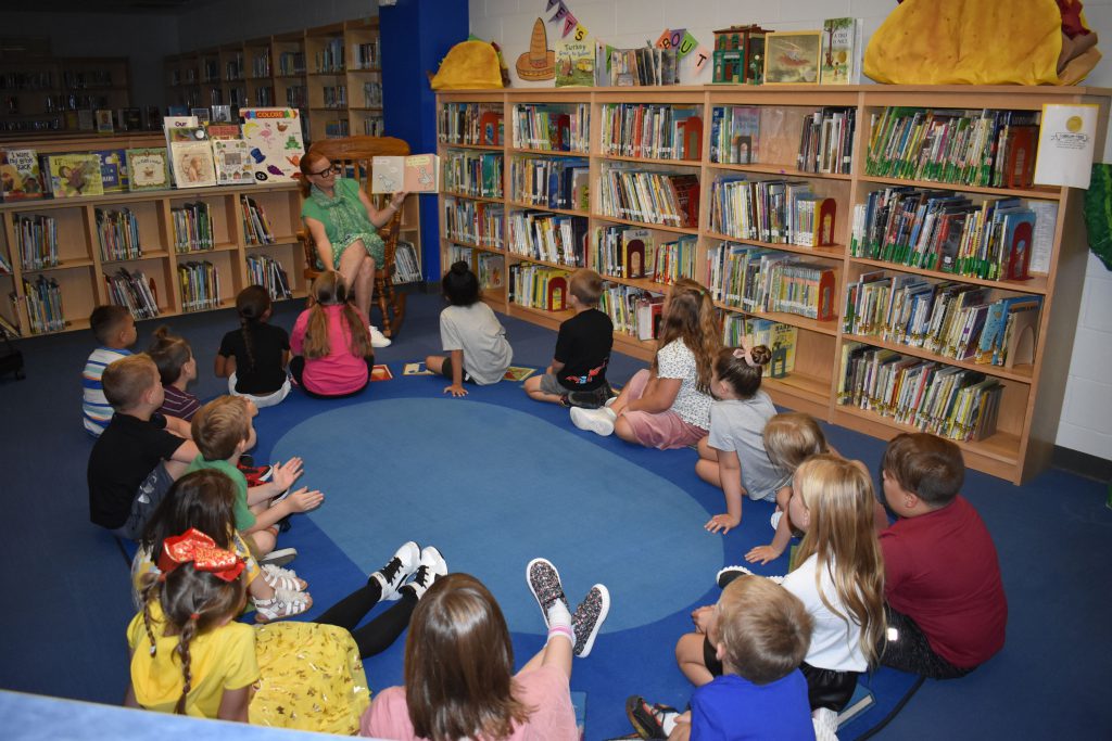
[[[1049, 464], [1083, 280], [1081, 194], [1033, 184], [1042, 107], [1095, 88], [707, 86], [438, 96], [441, 269], [557, 327], [607, 281], [644, 360], [668, 286], [729, 346], [773, 350], [784, 407], [881, 438], [927, 430], [1021, 482]], [[1061, 290], [1066, 287], [1066, 290]]]

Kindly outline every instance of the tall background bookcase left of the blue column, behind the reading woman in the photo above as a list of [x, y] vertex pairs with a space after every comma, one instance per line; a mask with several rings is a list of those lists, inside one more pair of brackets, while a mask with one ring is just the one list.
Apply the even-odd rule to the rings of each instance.
[[175, 54], [163, 66], [171, 104], [296, 108], [309, 141], [383, 136], [378, 18]]

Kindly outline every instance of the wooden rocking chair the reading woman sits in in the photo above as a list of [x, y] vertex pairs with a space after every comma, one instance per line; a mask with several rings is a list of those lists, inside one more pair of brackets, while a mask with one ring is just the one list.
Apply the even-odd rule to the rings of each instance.
[[[381, 196], [371, 196], [371, 158], [384, 156], [406, 156], [409, 144], [395, 137], [347, 137], [345, 139], [326, 139], [315, 142], [309, 152], [319, 152], [332, 164], [344, 167], [344, 177], [353, 177], [363, 184], [364, 191], [376, 207], [383, 201]], [[384, 226], [378, 228], [378, 236], [385, 244], [383, 264], [375, 268], [375, 304], [383, 313], [383, 334], [395, 337], [406, 316], [406, 294], [394, 291], [395, 252], [398, 246], [398, 232], [401, 229], [401, 211], [398, 210]], [[312, 282], [320, 271], [317, 270], [317, 250], [312, 234], [308, 229], [301, 229], [297, 236], [305, 248], [305, 279]]]

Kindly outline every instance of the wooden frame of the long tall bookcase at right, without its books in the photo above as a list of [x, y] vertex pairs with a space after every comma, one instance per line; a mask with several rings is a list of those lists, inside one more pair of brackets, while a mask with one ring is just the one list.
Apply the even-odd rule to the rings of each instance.
[[[677, 86], [664, 88], [570, 88], [570, 89], [520, 89], [520, 90], [476, 90], [450, 91], [437, 96], [439, 153], [447, 177], [448, 162], [453, 158], [487, 156], [500, 160], [500, 190], [476, 192], [464, 189], [446, 190], [439, 196], [440, 208], [440, 256], [441, 269], [453, 261], [467, 259], [485, 280], [483, 299], [496, 310], [512, 317], [556, 328], [570, 312], [550, 312], [519, 306], [510, 300], [507, 289], [508, 274], [513, 266], [532, 263], [540, 267], [573, 271], [577, 266], [573, 260], [544, 260], [535, 254], [515, 250], [509, 227], [514, 214], [523, 211], [545, 212], [553, 216], [574, 216], [584, 219], [586, 231], [586, 260], [592, 264], [593, 236], [598, 229], [631, 227], [647, 229], [653, 240], [659, 244], [669, 240], [694, 240], [694, 269], [691, 277], [707, 284], [713, 278], [709, 264], [712, 256], [718, 254], [723, 246], [766, 248], [784, 252], [790, 258], [804, 260], [817, 266], [822, 272], [834, 276], [834, 318], [821, 321], [814, 318], [766, 311], [759, 308], [742, 308], [725, 297], [716, 299], [723, 320], [731, 317], [768, 319], [795, 329], [794, 369], [783, 378], [766, 378], [766, 389], [780, 405], [805, 411], [818, 419], [857, 430], [882, 439], [890, 439], [903, 431], [917, 429], [912, 424], [897, 422], [892, 414], [875, 409], [847, 403], [842, 382], [845, 374], [843, 359], [852, 348], [892, 350], [904, 359], [926, 361], [935, 369], [956, 369], [984, 374], [995, 381], [997, 413], [995, 430], [981, 439], [957, 440], [966, 464], [992, 475], [1022, 483], [1044, 470], [1050, 463], [1051, 452], [1062, 411], [1066, 373], [1071, 357], [1075, 323], [1080, 308], [1080, 291], [1086, 264], [1086, 241], [1082, 221], [1083, 193], [1070, 188], [993, 188], [937, 181], [921, 181], [906, 178], [876, 177], [866, 174], [866, 152], [874, 127], [881, 126], [886, 109], [910, 107], [929, 111], [1020, 111], [1037, 113], [1043, 104], [1096, 104], [1099, 107], [1095, 151], [1103, 150], [1104, 136], [1109, 124], [1109, 100], [1112, 91], [1098, 88], [1017, 88], [1017, 87], [961, 87], [961, 86]], [[682, 159], [657, 157], [632, 157], [614, 153], [604, 141], [604, 114], [612, 113], [613, 106], [661, 106], [673, 110], [683, 109], [702, 117], [702, 140], [697, 152], [685, 152]], [[469, 138], [455, 136], [447, 121], [459, 116], [459, 111], [470, 106], [476, 114], [480, 110], [493, 110], [502, 114], [502, 136], [497, 141], [489, 137]], [[515, 124], [520, 107], [546, 107], [568, 113], [572, 127], [583, 127], [588, 146], [582, 151], [550, 151], [536, 149], [529, 142], [515, 139]], [[455, 108], [454, 108], [455, 107]], [[762, 126], [759, 163], [729, 163], [712, 159], [712, 136], [715, 109], [727, 107], [749, 107], [767, 113], [777, 123], [765, 130]], [[800, 169], [796, 156], [800, 149], [802, 121], [816, 111], [836, 107], [852, 110], [855, 128], [852, 134], [852, 157], [842, 171], [813, 172]], [[583, 120], [589, 117], [589, 122]], [[764, 120], [764, 119], [762, 119]], [[574, 139], [574, 136], [572, 137]], [[584, 158], [589, 171], [589, 201], [583, 208], [547, 208], [536, 206], [526, 194], [515, 192], [513, 170], [515, 163], [534, 158]], [[723, 159], [723, 158], [716, 158]], [[727, 158], [728, 159], [728, 158]], [[697, 224], [679, 227], [675, 223], [652, 223], [614, 216], [604, 209], [602, 191], [603, 178], [615, 168], [648, 173], [695, 174], [701, 184]], [[832, 199], [836, 206], [833, 243], [825, 247], [804, 247], [782, 243], [782, 241], [759, 241], [725, 233], [721, 224], [712, 219], [712, 192], [714, 183], [723, 178], [752, 181], [783, 180], [802, 182], [820, 199]], [[519, 182], [519, 181], [518, 181]], [[1056, 217], [1046, 233], [1052, 234], [1049, 258], [1042, 270], [1034, 272], [1030, 280], [1006, 281], [942, 272], [940, 270], [910, 267], [893, 261], [855, 257], [851, 248], [854, 208], [865, 203], [871, 193], [892, 187], [911, 187], [924, 191], [943, 191], [952, 196], [970, 199], [976, 208], [986, 201], [1014, 197], [1024, 208], [1032, 204], [1053, 204]], [[995, 202], [995, 201], [993, 201]], [[481, 209], [480, 209], [481, 207]], [[475, 213], [473, 224], [459, 227], [460, 219]], [[463, 214], [463, 217], [460, 216]], [[716, 250], [718, 250], [716, 252]], [[497, 278], [489, 266], [500, 266]], [[485, 268], [485, 269], [484, 269]], [[946, 281], [959, 288], [975, 287], [986, 289], [989, 301], [1009, 297], [1037, 297], [1041, 311], [1036, 321], [1036, 339], [1033, 361], [1026, 364], [1005, 367], [975, 363], [972, 359], [957, 360], [926, 350], [909, 347], [882, 339], [877, 334], [857, 336], [843, 322], [848, 287], [858, 283], [876, 272], [893, 280], [901, 277], [916, 277], [937, 288]], [[610, 286], [639, 288], [653, 293], [665, 293], [665, 283], [644, 278], [622, 278], [600, 270]], [[713, 287], [711, 287], [713, 288]], [[615, 332], [614, 347], [643, 360], [649, 360], [656, 350], [655, 341], [639, 340], [619, 331]]]

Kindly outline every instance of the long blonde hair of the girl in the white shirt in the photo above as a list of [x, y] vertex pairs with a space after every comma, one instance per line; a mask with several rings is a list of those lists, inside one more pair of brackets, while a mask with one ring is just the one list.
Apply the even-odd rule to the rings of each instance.
[[[857, 461], [820, 453], [796, 469], [793, 489], [811, 518], [796, 563], [817, 557], [815, 587], [823, 604], [861, 625], [861, 650], [875, 664], [884, 635], [884, 560], [873, 523], [873, 479]], [[826, 601], [821, 580], [827, 571], [850, 615]]]

